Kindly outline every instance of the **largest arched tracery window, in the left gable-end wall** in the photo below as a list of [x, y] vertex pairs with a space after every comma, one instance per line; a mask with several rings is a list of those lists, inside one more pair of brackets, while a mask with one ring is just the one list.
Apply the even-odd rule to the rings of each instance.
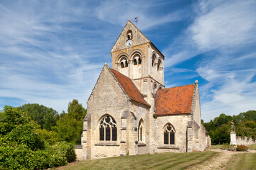
[[117, 123], [111, 115], [100, 120], [100, 140], [117, 141]]

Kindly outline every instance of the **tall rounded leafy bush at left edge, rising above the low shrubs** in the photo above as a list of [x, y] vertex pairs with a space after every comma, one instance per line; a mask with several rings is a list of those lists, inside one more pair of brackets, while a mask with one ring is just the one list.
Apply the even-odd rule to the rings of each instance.
[[30, 117], [18, 108], [5, 106], [0, 113], [0, 145], [26, 145], [28, 148], [42, 149], [43, 140], [36, 133], [39, 126]]

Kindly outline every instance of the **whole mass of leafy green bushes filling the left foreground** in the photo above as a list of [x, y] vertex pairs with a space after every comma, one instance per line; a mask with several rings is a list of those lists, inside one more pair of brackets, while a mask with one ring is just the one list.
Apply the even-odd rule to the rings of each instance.
[[18, 108], [6, 106], [0, 112], [0, 169], [47, 169], [75, 160], [73, 145], [38, 128]]

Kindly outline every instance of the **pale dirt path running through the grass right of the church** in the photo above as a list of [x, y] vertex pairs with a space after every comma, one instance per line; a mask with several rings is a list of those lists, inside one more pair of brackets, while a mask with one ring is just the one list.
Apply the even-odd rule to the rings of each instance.
[[[241, 154], [245, 152], [233, 152], [222, 149], [209, 149], [210, 151], [219, 152], [218, 157], [213, 157], [213, 159], [204, 162], [203, 164], [198, 164], [196, 166], [192, 166], [189, 170], [208, 170], [208, 169], [226, 169], [232, 162], [235, 157], [235, 154]], [[251, 152], [256, 152], [255, 150]]]

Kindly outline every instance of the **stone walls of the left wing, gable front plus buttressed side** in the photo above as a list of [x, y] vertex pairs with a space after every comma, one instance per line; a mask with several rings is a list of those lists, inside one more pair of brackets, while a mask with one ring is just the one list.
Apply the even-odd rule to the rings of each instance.
[[[100, 120], [111, 115], [117, 124], [117, 141], [100, 141]], [[129, 101], [115, 81], [110, 70], [102, 69], [95, 89], [87, 102], [87, 117], [84, 120], [82, 137], [83, 158], [97, 159], [120, 155], [149, 153], [149, 107]], [[144, 141], [138, 143], [139, 120], [144, 122]]]

